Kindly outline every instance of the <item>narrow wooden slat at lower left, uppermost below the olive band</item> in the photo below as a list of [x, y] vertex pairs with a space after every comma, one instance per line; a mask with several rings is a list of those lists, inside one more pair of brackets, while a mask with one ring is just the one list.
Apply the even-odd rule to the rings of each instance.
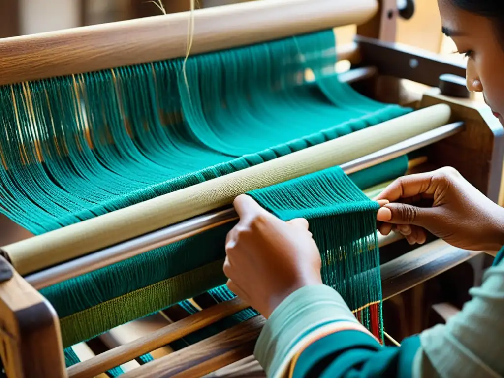
[[118, 346], [90, 360], [69, 367], [69, 378], [87, 378], [97, 375], [152, 350], [161, 348], [247, 307], [248, 305], [238, 298], [216, 304], [131, 343]]

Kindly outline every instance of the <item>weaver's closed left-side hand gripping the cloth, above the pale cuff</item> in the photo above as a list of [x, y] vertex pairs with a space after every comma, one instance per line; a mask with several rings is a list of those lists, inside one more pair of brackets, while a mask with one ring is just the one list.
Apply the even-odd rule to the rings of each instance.
[[295, 290], [322, 283], [319, 249], [305, 219], [284, 222], [246, 195], [233, 205], [240, 220], [226, 239], [227, 286], [269, 318]]

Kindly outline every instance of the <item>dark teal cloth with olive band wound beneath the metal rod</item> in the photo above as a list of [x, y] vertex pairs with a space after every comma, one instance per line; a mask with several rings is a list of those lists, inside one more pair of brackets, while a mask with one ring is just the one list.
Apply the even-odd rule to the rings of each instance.
[[[407, 157], [400, 157], [365, 169], [360, 178], [355, 175], [350, 177], [359, 178], [358, 183], [366, 188], [374, 185], [376, 180], [392, 179], [397, 177], [396, 174], [403, 174], [407, 167]], [[225, 258], [226, 234], [234, 224], [222, 225], [42, 289], [41, 293], [51, 302], [60, 318], [64, 345], [88, 340], [110, 328], [225, 283], [221, 266], [213, 263]], [[213, 286], [209, 286], [209, 282]], [[233, 295], [225, 287], [217, 287], [209, 293], [219, 302]], [[186, 309], [193, 308], [187, 301], [180, 304]], [[233, 324], [254, 314], [254, 311], [243, 310], [234, 316]], [[222, 324], [229, 322], [222, 321], [213, 329], [222, 329]], [[191, 336], [187, 340], [200, 339], [200, 336]]]

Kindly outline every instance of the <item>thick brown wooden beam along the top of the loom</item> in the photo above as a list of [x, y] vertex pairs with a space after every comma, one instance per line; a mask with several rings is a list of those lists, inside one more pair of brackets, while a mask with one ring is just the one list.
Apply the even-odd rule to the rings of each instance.
[[[191, 54], [362, 24], [376, 0], [276, 0], [194, 12]], [[80, 74], [186, 54], [190, 12], [0, 40], [0, 85]]]

